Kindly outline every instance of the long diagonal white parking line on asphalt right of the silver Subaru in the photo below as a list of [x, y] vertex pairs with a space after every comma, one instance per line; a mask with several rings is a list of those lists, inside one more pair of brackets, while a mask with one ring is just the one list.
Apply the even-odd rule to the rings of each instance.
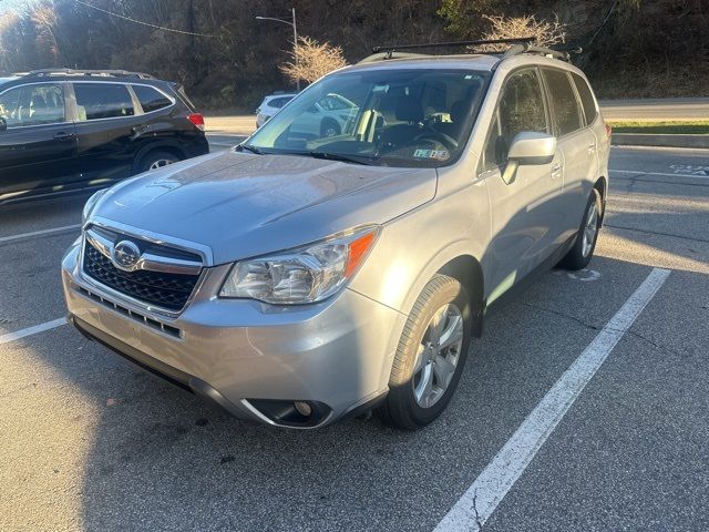
[[481, 530], [669, 273], [667, 269], [653, 269], [522, 422], [434, 532]]

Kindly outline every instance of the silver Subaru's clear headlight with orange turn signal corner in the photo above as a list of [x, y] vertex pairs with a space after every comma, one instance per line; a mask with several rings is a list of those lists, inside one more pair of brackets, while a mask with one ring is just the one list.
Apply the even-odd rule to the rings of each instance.
[[368, 227], [299, 250], [237, 263], [219, 297], [274, 305], [321, 301], [357, 273], [378, 233], [378, 227]]

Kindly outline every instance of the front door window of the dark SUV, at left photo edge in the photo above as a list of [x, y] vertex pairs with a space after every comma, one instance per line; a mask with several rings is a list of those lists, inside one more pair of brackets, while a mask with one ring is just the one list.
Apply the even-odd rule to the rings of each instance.
[[8, 127], [64, 122], [64, 91], [55, 83], [10, 89], [0, 95], [0, 116]]

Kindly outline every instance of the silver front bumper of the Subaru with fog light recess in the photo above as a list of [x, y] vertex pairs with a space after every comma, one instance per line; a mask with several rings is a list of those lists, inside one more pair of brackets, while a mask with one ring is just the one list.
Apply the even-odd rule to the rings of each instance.
[[[76, 243], [62, 262], [70, 321], [239, 418], [322, 427], [388, 391], [405, 316], [358, 293], [292, 307], [218, 299], [225, 265], [208, 268], [185, 310], [167, 317], [109, 296], [83, 276], [79, 257]], [[292, 401], [309, 401], [317, 417], [291, 422], [273, 415]]]

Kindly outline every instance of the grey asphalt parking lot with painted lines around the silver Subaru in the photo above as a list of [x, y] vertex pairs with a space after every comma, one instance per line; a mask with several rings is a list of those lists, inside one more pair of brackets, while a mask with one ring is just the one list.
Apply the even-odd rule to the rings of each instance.
[[3, 207], [0, 530], [709, 530], [709, 153], [610, 167], [589, 270], [491, 317], [417, 433], [249, 424], [145, 376], [62, 325], [85, 196]]

